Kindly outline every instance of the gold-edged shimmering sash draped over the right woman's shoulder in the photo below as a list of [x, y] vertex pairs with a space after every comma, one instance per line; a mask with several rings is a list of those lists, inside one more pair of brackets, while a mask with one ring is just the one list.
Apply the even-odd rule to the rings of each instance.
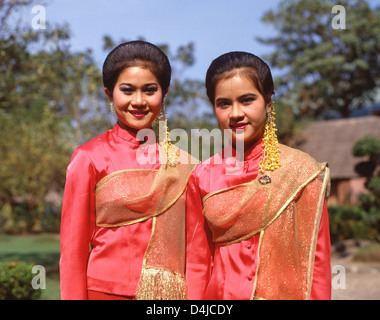
[[[260, 233], [252, 298], [309, 297], [316, 238], [329, 183], [327, 164], [280, 145], [281, 167], [258, 179], [203, 199], [216, 245]], [[260, 178], [260, 177], [258, 177]]]

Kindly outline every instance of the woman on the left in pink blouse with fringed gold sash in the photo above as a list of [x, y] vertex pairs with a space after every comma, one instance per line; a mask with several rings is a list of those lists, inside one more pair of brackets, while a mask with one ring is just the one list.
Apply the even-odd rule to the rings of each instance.
[[67, 168], [62, 299], [186, 298], [185, 190], [193, 165], [166, 135], [157, 144], [151, 130], [170, 77], [166, 55], [144, 41], [117, 46], [104, 62], [118, 121], [79, 146]]

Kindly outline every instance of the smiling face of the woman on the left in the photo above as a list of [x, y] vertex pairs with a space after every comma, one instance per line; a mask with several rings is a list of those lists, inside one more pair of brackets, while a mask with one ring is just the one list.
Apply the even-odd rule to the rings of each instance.
[[149, 69], [142, 67], [125, 68], [119, 75], [112, 95], [119, 120], [136, 131], [149, 128], [160, 112], [164, 93]]

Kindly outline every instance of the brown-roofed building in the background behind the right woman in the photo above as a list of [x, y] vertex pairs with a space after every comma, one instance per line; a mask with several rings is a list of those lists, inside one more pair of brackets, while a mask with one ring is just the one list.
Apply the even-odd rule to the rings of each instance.
[[358, 196], [366, 192], [366, 178], [355, 166], [366, 157], [354, 157], [355, 143], [366, 135], [380, 138], [380, 116], [318, 121], [310, 124], [291, 142], [319, 162], [327, 161], [331, 173], [331, 192], [328, 204], [355, 205]]

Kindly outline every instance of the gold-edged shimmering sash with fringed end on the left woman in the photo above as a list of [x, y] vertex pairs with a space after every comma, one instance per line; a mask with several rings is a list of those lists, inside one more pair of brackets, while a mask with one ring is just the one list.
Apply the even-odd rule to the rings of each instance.
[[159, 170], [117, 171], [96, 186], [98, 227], [120, 227], [153, 219], [137, 299], [187, 297], [185, 190], [195, 161], [183, 151], [179, 161], [174, 167], [161, 165]]

